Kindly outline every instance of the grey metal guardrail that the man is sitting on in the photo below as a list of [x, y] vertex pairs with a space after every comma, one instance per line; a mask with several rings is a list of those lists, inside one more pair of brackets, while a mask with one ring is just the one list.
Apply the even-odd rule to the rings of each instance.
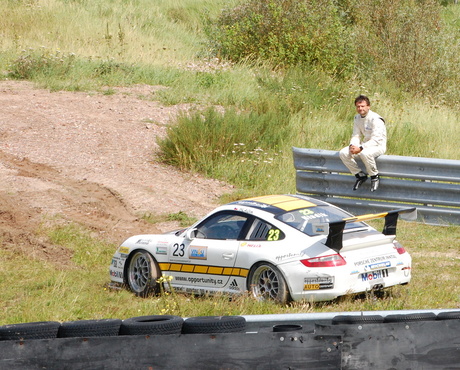
[[[353, 214], [417, 207], [417, 221], [460, 225], [460, 161], [382, 155], [380, 187], [353, 191], [355, 177], [331, 150], [293, 148], [297, 192]], [[362, 165], [364, 168], [364, 165]]]

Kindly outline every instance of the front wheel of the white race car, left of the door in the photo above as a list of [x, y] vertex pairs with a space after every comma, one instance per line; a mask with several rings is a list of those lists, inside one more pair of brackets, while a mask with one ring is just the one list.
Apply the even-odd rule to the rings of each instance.
[[146, 251], [136, 251], [129, 258], [127, 283], [138, 297], [147, 297], [159, 292], [157, 279], [161, 272], [152, 255]]

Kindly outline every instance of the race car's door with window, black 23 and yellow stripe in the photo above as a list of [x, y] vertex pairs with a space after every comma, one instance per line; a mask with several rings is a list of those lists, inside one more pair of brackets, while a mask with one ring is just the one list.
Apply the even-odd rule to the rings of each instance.
[[175, 243], [169, 254], [173, 285], [198, 292], [223, 288], [240, 270], [234, 266], [247, 221], [237, 211], [218, 212], [197, 225], [192, 240]]

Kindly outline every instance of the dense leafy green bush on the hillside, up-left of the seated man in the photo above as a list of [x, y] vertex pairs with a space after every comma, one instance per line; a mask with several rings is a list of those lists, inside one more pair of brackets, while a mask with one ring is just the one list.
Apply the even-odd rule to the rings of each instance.
[[269, 60], [343, 74], [353, 63], [350, 34], [330, 0], [249, 0], [209, 27], [216, 52], [233, 61]]

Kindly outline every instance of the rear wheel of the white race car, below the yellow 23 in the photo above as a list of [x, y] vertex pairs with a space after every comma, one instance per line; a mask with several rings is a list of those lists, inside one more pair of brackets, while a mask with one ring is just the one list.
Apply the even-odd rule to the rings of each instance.
[[259, 263], [249, 272], [248, 291], [259, 301], [290, 301], [289, 289], [283, 274], [271, 263]]

